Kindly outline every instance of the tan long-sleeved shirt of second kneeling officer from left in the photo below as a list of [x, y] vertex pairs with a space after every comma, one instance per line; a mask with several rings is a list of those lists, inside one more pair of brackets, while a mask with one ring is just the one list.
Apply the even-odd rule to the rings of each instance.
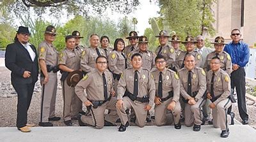
[[[118, 82], [117, 99], [122, 99], [125, 93], [125, 90], [133, 94], [134, 90], [134, 73], [133, 68], [125, 69], [121, 75], [121, 78]], [[138, 69], [138, 96], [143, 97], [148, 96], [149, 103], [148, 105], [152, 106], [154, 104], [154, 97], [156, 94], [156, 88], [154, 84], [154, 78], [152, 73], [148, 69], [141, 67]]]

